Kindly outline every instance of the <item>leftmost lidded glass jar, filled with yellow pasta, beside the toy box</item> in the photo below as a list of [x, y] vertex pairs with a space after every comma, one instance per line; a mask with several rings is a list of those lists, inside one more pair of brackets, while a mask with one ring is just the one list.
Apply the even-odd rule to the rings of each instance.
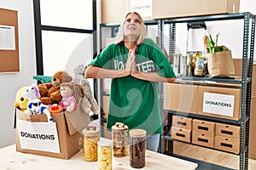
[[85, 127], [84, 134], [84, 161], [97, 161], [97, 142], [100, 139], [100, 131], [96, 127]]

